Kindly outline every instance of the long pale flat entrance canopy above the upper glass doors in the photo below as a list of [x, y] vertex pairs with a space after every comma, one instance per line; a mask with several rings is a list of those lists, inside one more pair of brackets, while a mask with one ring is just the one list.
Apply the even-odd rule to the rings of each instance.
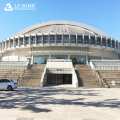
[[29, 51], [32, 55], [86, 55], [92, 52], [87, 51]]

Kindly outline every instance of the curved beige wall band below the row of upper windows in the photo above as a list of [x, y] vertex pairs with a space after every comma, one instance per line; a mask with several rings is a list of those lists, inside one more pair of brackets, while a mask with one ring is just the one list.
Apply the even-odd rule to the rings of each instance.
[[[76, 46], [46, 46], [46, 47], [34, 47], [34, 48], [22, 48], [22, 49], [15, 49], [6, 51], [2, 54], [2, 60], [18, 60], [18, 59], [24, 59], [24, 58], [31, 58], [32, 55], [28, 53], [29, 51], [86, 51], [86, 47], [76, 47]], [[101, 50], [99, 48], [89, 48], [88, 51], [92, 52], [89, 54], [89, 58], [102, 58], [102, 51], [103, 51], [103, 59], [119, 59], [119, 55], [116, 53], [116, 51], [110, 51], [110, 50]], [[51, 55], [51, 57], [68, 57], [68, 55]], [[34, 57], [49, 57], [49, 55], [37, 55]], [[71, 55], [70, 57], [86, 57], [86, 55]]]

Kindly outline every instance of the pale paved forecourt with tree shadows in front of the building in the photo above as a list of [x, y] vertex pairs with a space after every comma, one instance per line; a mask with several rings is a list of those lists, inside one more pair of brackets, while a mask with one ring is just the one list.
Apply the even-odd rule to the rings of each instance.
[[1, 90], [0, 120], [120, 120], [120, 89], [47, 85]]

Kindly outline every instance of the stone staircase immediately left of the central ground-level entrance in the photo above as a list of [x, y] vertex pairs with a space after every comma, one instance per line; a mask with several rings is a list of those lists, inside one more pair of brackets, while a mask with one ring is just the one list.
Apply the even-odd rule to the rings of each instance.
[[20, 80], [20, 87], [40, 87], [41, 77], [44, 71], [44, 64], [32, 65], [27, 69]]

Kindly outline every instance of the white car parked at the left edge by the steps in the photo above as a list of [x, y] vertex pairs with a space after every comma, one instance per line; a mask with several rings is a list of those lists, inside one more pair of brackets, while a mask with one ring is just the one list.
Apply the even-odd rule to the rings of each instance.
[[11, 79], [0, 79], [0, 89], [1, 90], [14, 90], [18, 87], [17, 82], [12, 81]]

